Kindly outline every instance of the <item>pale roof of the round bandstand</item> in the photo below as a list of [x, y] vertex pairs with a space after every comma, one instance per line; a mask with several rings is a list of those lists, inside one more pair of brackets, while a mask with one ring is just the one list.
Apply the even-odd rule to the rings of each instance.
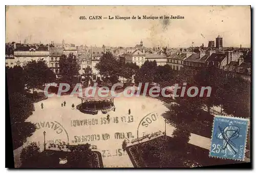
[[[95, 90], [95, 93], [94, 93]], [[103, 100], [107, 100], [107, 99], [111, 99], [114, 98], [114, 96], [111, 95], [111, 91], [109, 91], [108, 93], [102, 93], [102, 96], [99, 96], [99, 91], [104, 91], [104, 89], [101, 89], [99, 87], [93, 88], [93, 87], [88, 87], [88, 88], [84, 88], [82, 89], [82, 97], [78, 96], [77, 98], [82, 99], [82, 100], [86, 100], [86, 101], [103, 101]]]

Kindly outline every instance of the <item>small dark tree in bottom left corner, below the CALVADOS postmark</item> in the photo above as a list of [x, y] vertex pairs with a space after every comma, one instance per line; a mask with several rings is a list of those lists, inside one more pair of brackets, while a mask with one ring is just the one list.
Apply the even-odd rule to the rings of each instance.
[[32, 142], [30, 145], [22, 149], [20, 153], [20, 160], [22, 161], [22, 167], [36, 167], [40, 154], [40, 148], [36, 142]]

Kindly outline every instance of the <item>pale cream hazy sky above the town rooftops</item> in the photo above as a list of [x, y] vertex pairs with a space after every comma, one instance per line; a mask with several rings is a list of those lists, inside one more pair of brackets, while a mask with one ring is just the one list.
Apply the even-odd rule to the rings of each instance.
[[[101, 20], [89, 16], [101, 15]], [[184, 19], [109, 20], [119, 16], [184, 16]], [[80, 20], [86, 16], [87, 20]], [[76, 46], [200, 46], [223, 37], [224, 47], [250, 47], [249, 6], [8, 6], [6, 41], [73, 43]]]

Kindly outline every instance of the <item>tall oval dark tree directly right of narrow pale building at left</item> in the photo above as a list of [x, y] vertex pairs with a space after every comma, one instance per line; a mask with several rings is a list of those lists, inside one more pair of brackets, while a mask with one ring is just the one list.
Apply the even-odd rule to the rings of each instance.
[[75, 56], [62, 55], [59, 60], [60, 80], [73, 86], [77, 82], [80, 66]]

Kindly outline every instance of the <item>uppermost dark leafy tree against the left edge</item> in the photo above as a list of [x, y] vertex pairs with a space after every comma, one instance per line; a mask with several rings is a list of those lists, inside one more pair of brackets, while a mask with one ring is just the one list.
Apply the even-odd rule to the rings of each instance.
[[24, 92], [25, 83], [24, 83], [24, 74], [23, 68], [20, 66], [14, 66], [13, 68], [6, 67], [7, 75], [7, 85], [9, 94], [19, 92]]

